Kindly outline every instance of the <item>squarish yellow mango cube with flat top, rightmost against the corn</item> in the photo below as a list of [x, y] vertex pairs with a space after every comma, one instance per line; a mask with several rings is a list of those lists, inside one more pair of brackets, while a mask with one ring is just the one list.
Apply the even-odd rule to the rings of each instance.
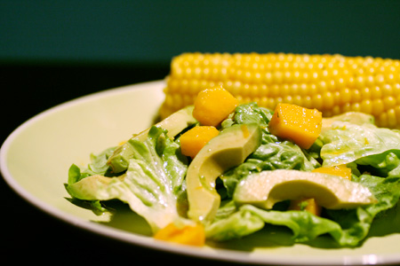
[[279, 103], [269, 121], [269, 132], [308, 149], [321, 133], [322, 113], [316, 109]]

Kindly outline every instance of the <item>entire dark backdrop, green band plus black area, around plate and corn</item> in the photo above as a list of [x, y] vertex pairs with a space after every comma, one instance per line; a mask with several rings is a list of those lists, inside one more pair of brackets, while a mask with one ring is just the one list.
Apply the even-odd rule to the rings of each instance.
[[[52, 106], [99, 90], [163, 79], [172, 57], [184, 51], [400, 59], [399, 47], [396, 0], [0, 0], [0, 144], [22, 122]], [[3, 178], [0, 202], [0, 249], [9, 262], [52, 262], [57, 255], [58, 265], [231, 265], [80, 231], [30, 206]]]

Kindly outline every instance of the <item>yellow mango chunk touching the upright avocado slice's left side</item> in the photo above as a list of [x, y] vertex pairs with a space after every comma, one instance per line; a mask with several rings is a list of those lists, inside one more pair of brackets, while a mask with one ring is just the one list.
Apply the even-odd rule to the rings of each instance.
[[180, 136], [180, 151], [185, 156], [195, 158], [204, 145], [218, 134], [220, 134], [220, 131], [211, 126], [198, 126], [189, 129]]

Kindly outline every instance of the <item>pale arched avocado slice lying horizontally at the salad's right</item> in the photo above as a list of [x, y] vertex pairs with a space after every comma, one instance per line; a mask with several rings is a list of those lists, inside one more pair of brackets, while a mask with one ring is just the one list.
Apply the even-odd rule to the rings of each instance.
[[278, 169], [246, 176], [236, 186], [234, 200], [270, 209], [276, 202], [314, 198], [325, 208], [352, 208], [376, 203], [362, 184], [340, 176]]

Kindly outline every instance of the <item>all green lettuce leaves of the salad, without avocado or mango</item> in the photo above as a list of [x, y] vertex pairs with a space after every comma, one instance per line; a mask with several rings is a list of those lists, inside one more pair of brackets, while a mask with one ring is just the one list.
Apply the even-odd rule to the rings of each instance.
[[[360, 245], [372, 221], [395, 207], [400, 199], [400, 133], [376, 127], [370, 115], [345, 113], [324, 119], [320, 137], [304, 150], [269, 133], [272, 113], [255, 103], [246, 104], [237, 106], [221, 123], [220, 129], [258, 123], [262, 140], [244, 163], [217, 179], [221, 204], [212, 223], [204, 224], [207, 239], [240, 239], [273, 224], [292, 231], [294, 242], [329, 235], [338, 246]], [[73, 164], [69, 168], [68, 193], [75, 199], [92, 202], [93, 208], [102, 211], [107, 200], [122, 200], [144, 217], [154, 232], [177, 220], [191, 223], [186, 215], [190, 202], [185, 182], [191, 159], [180, 153], [180, 135], [172, 139], [166, 129], [153, 126], [144, 141], [131, 139], [127, 144], [133, 153], [124, 172], [112, 172], [108, 158], [116, 147], [108, 148], [92, 155], [87, 167]], [[340, 164], [352, 169], [352, 182], [367, 187], [377, 203], [352, 209], [324, 209], [321, 216], [316, 216], [288, 210], [286, 201], [267, 210], [251, 204], [238, 205], [232, 197], [236, 184], [252, 173], [275, 169], [311, 171]]]

